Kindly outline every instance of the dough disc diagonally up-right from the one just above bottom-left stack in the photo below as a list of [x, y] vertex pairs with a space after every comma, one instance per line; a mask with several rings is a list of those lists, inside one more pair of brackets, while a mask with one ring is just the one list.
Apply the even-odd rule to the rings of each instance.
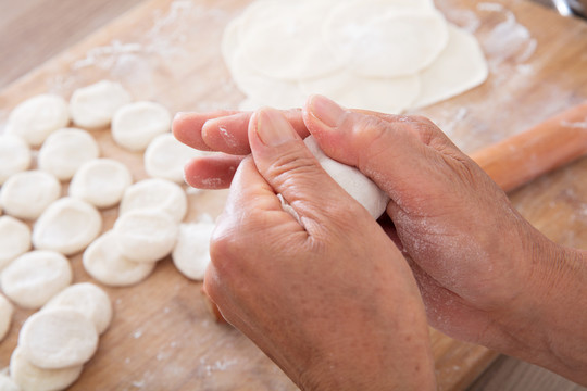
[[33, 228], [33, 244], [65, 255], [84, 250], [102, 230], [102, 216], [91, 204], [71, 197], [53, 202]]

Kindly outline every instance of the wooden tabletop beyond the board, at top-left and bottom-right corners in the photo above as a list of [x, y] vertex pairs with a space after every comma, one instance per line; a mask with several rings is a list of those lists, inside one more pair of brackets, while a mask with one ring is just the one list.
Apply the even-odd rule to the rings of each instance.
[[[143, 1], [0, 0], [0, 88]], [[502, 356], [469, 390], [585, 389], [545, 369]]]

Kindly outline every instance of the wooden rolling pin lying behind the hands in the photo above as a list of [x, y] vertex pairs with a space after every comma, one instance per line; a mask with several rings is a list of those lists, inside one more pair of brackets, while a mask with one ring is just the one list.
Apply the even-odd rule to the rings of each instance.
[[[505, 192], [587, 154], [587, 101], [471, 155]], [[202, 293], [205, 292], [202, 289]], [[218, 323], [224, 318], [205, 295]]]

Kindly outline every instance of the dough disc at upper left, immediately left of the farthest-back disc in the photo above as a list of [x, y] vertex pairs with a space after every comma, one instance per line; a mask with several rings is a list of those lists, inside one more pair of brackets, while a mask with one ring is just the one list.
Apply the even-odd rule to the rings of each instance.
[[68, 123], [67, 102], [59, 96], [43, 93], [14, 108], [9, 115], [5, 133], [21, 136], [30, 147], [39, 147], [52, 131]]

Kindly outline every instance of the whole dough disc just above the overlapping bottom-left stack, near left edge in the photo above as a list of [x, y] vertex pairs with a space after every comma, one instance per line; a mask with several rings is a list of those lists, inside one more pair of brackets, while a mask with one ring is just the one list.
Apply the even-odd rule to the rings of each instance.
[[18, 256], [1, 275], [2, 290], [23, 308], [40, 308], [72, 283], [70, 261], [54, 251], [32, 251]]

